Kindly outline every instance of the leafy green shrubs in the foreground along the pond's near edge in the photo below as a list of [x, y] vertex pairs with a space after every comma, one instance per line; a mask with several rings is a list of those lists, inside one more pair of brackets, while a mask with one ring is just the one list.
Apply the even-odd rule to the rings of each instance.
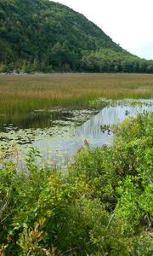
[[0, 253], [152, 255], [153, 116], [114, 131], [112, 148], [87, 144], [66, 177], [38, 168], [33, 148], [20, 171], [1, 152]]

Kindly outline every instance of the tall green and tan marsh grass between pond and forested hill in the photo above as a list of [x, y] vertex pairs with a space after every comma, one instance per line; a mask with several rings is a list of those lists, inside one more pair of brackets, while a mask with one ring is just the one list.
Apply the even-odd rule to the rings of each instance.
[[34, 109], [57, 106], [96, 107], [100, 97], [151, 96], [153, 75], [146, 74], [0, 75], [0, 114], [29, 113]]

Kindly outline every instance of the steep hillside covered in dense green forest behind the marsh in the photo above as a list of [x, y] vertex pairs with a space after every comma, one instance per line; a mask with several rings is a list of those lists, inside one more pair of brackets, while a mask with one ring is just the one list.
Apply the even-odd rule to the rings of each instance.
[[0, 72], [153, 73], [83, 15], [48, 0], [0, 0]]

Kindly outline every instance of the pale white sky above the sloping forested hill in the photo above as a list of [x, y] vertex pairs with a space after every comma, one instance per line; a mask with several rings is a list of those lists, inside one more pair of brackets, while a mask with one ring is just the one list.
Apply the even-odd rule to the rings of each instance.
[[52, 0], [99, 26], [116, 44], [153, 59], [153, 0]]

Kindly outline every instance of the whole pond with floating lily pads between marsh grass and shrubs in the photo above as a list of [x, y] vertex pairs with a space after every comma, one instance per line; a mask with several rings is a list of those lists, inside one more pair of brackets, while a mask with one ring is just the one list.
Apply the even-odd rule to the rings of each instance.
[[90, 148], [111, 146], [110, 126], [145, 110], [153, 111], [152, 100], [109, 102], [99, 111], [54, 108], [22, 114], [18, 119], [1, 117], [0, 147], [6, 148], [8, 155], [14, 151], [14, 160], [20, 164], [29, 147], [37, 147], [42, 154], [40, 162], [66, 168], [87, 143]]

